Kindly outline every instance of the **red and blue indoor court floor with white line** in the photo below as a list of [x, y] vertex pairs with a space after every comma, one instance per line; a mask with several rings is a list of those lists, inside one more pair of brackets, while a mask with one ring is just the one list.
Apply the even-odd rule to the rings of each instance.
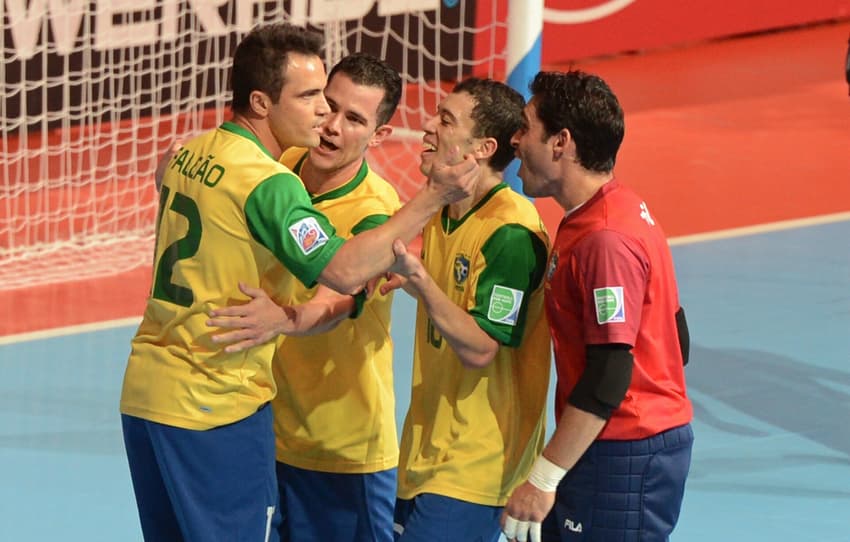
[[[696, 443], [674, 541], [850, 542], [848, 34], [576, 64], [623, 103], [616, 172], [670, 235], [688, 312]], [[0, 541], [141, 540], [118, 396], [149, 282], [0, 291]], [[396, 299], [401, 423], [414, 305]]]

